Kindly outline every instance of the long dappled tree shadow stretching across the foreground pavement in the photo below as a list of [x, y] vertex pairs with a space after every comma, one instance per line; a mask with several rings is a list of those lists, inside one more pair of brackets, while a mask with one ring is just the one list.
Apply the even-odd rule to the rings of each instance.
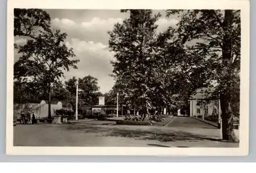
[[184, 131], [169, 129], [167, 132], [161, 132], [158, 128], [148, 129], [126, 129], [126, 127], [104, 127], [92, 125], [70, 125], [67, 129], [74, 131], [82, 131], [83, 133], [95, 133], [97, 136], [125, 137], [139, 140], [157, 140], [160, 142], [168, 141], [219, 141], [227, 142], [221, 139], [209, 138], [207, 136], [196, 135]]

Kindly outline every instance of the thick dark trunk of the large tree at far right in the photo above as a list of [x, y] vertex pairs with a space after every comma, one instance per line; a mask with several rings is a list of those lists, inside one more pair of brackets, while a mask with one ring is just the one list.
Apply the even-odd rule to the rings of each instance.
[[[224, 36], [222, 45], [222, 63], [223, 71], [225, 71], [226, 73], [224, 73], [225, 76], [222, 76], [222, 78], [228, 79], [228, 83], [232, 80], [229, 71], [232, 52], [231, 29], [233, 17], [234, 16], [232, 10], [225, 10], [225, 16], [223, 21]], [[230, 84], [227, 84], [226, 86], [230, 86]], [[222, 93], [220, 94], [220, 105], [222, 112], [222, 138], [224, 140], [237, 141], [236, 135], [234, 134], [233, 130], [233, 113], [231, 109], [230, 92], [228, 87], [225, 87], [224, 91], [222, 91]]]

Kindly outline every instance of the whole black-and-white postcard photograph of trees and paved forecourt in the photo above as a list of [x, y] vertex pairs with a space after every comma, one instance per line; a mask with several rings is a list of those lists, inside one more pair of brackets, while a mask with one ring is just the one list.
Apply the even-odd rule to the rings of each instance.
[[232, 153], [246, 140], [241, 9], [12, 10], [12, 147]]

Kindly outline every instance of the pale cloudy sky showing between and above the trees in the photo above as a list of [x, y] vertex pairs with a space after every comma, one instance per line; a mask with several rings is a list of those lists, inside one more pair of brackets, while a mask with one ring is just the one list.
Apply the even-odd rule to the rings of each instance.
[[[63, 10], [63, 9], [44, 9], [51, 17], [51, 27], [60, 29], [61, 32], [68, 34], [66, 45], [73, 48], [79, 59], [78, 69], [71, 69], [65, 72], [65, 80], [75, 76], [81, 78], [91, 75], [98, 79], [100, 92], [105, 93], [112, 89], [114, 79], [110, 76], [113, 67], [110, 63], [114, 58], [114, 52], [108, 48], [109, 35], [114, 24], [122, 23], [124, 18], [129, 17], [129, 12], [121, 13], [120, 10]], [[158, 32], [164, 31], [169, 26], [175, 26], [178, 18], [165, 17], [164, 11], [156, 24]], [[15, 38], [16, 44], [25, 44], [26, 38]], [[15, 51], [14, 62], [19, 55]]]

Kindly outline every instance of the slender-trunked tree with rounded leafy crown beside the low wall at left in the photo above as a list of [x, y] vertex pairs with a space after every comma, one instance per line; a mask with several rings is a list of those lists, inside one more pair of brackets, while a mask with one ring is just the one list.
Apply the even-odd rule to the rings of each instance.
[[49, 95], [49, 113], [51, 117], [51, 87], [55, 80], [63, 77], [64, 71], [77, 68], [72, 48], [69, 49], [65, 40], [66, 33], [60, 30], [40, 31], [29, 39], [27, 44], [19, 46], [18, 53], [22, 54], [14, 64], [14, 78], [18, 81], [34, 82], [38, 90]]

